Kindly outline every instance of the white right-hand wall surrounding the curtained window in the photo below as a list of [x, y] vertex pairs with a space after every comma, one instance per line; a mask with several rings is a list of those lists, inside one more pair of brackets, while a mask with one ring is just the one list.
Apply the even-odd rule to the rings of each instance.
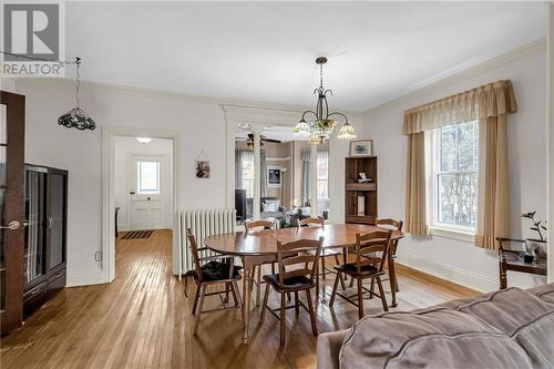
[[[401, 134], [403, 111], [488, 82], [511, 79], [517, 100], [517, 113], [509, 116], [509, 162], [512, 236], [527, 237], [529, 224], [522, 212], [537, 211], [546, 216], [546, 54], [544, 47], [531, 54], [495, 66], [428, 93], [399, 99], [370, 110], [365, 116], [366, 136], [373, 140], [379, 156], [379, 217], [404, 218], [407, 139]], [[480, 290], [497, 288], [496, 253], [473, 244], [443, 238], [407, 236], [399, 247], [399, 263]], [[541, 276], [509, 273], [509, 284], [531, 286], [545, 283]]]

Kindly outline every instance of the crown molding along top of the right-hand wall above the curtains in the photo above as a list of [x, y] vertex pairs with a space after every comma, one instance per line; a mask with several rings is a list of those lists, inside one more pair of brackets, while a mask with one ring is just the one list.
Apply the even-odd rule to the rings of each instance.
[[479, 74], [482, 74], [484, 72], [488, 72], [490, 70], [494, 70], [496, 68], [500, 68], [502, 65], [509, 64], [511, 62], [514, 62], [516, 60], [526, 58], [529, 55], [532, 55], [534, 53], [545, 51], [546, 50], [546, 38], [541, 38], [538, 40], [535, 40], [533, 42], [526, 43], [520, 48], [516, 48], [512, 51], [509, 51], [506, 53], [500, 54], [497, 57], [494, 57], [492, 59], [488, 59], [481, 63], [478, 63], [473, 66], [470, 66], [468, 69], [464, 69], [462, 71], [455, 71], [450, 75], [447, 75], [441, 79], [442, 75], [445, 73], [439, 74], [437, 78], [428, 79], [424, 82], [419, 83], [419, 86], [416, 86], [412, 89], [412, 91], [400, 95], [398, 98], [388, 100], [387, 102], [376, 105], [373, 107], [370, 107], [363, 112], [363, 114], [367, 114], [372, 111], [378, 111], [381, 109], [387, 109], [397, 104], [401, 104], [403, 102], [411, 101], [417, 98], [424, 96], [429, 93], [432, 93], [438, 90], [442, 90], [444, 88], [448, 88], [449, 85], [463, 82], [470, 78], [476, 76]]

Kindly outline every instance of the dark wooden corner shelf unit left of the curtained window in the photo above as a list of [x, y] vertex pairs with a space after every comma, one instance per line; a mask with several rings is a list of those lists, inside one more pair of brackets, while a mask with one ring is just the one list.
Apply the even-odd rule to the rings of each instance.
[[[346, 223], [375, 224], [377, 219], [377, 156], [347, 157], [345, 184]], [[358, 183], [358, 174], [365, 172], [371, 183]], [[365, 197], [363, 215], [358, 215], [358, 196]]]

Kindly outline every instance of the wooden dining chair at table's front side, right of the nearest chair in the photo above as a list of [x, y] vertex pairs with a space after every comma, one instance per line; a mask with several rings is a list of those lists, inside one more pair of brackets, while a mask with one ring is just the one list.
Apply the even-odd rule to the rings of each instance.
[[[356, 234], [356, 262], [335, 266], [335, 269], [338, 273], [335, 278], [329, 307], [332, 307], [335, 298], [338, 295], [358, 307], [358, 317], [361, 319], [363, 317], [363, 294], [369, 293], [370, 296], [373, 295], [379, 297], [381, 299], [383, 310], [389, 311], [387, 297], [384, 296], [384, 290], [382, 288], [381, 276], [384, 275], [383, 267], [389, 253], [391, 234], [391, 230], [372, 230], [366, 235]], [[377, 263], [376, 255], [379, 256], [379, 260]], [[356, 295], [345, 296], [337, 291], [340, 274], [346, 274], [350, 278], [356, 279], [358, 284]], [[379, 295], [375, 294], [371, 289], [363, 287], [363, 279], [376, 279], [379, 287]], [[355, 296], [358, 298], [358, 303], [351, 299]]]

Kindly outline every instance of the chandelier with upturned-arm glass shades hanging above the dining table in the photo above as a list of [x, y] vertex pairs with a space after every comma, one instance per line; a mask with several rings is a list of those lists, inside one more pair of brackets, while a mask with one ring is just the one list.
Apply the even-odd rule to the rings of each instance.
[[322, 143], [324, 140], [329, 139], [332, 130], [338, 124], [337, 121], [330, 117], [338, 115], [345, 120], [345, 123], [340, 127], [337, 139], [356, 139], [353, 126], [348, 123], [348, 117], [345, 114], [340, 112], [329, 113], [327, 94], [330, 93], [332, 95], [332, 91], [324, 88], [324, 64], [327, 63], [327, 58], [319, 57], [316, 59], [316, 63], [319, 64], [319, 88], [314, 90], [314, 93], [318, 94], [316, 111], [305, 111], [294, 132], [307, 134], [309, 137], [308, 142], [317, 145]]

